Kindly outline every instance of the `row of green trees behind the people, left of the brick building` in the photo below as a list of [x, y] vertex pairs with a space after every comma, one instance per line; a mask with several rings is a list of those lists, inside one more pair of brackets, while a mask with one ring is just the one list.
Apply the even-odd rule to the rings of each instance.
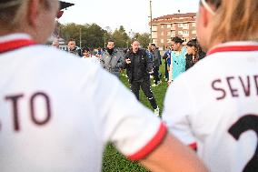
[[[120, 25], [114, 32], [110, 27], [103, 29], [101, 26], [96, 24], [84, 24], [77, 25], [74, 23], [59, 25], [60, 36], [66, 40], [74, 38], [76, 46], [88, 46], [91, 48], [104, 47], [109, 39], [113, 39], [116, 47], [129, 47], [131, 44], [131, 38], [137, 39], [143, 47], [147, 47], [150, 43], [150, 35], [147, 33], [134, 34], [134, 37], [127, 35], [124, 26]], [[81, 39], [80, 39], [81, 35]], [[81, 42], [80, 42], [81, 40]], [[80, 44], [81, 43], [81, 44]]]

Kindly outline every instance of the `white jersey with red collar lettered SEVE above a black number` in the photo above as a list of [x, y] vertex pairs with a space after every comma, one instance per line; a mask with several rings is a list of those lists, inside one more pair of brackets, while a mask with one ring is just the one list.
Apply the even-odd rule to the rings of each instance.
[[258, 171], [258, 43], [213, 48], [168, 88], [163, 118], [212, 172]]

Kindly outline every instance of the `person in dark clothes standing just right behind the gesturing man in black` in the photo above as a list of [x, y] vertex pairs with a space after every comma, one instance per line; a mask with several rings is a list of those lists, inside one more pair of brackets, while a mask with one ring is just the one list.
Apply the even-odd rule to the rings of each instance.
[[155, 44], [151, 44], [151, 53], [153, 54], [153, 64], [154, 64], [154, 85], [158, 86], [161, 83], [159, 76], [159, 69], [161, 65], [161, 54], [160, 50], [156, 47]]

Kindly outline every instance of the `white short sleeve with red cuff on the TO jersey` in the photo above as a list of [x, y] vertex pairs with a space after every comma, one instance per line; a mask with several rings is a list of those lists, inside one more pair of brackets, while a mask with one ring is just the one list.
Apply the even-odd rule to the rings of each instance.
[[117, 77], [102, 69], [96, 73], [94, 104], [101, 106], [97, 113], [101, 139], [113, 142], [132, 160], [146, 157], [164, 139], [166, 126]]

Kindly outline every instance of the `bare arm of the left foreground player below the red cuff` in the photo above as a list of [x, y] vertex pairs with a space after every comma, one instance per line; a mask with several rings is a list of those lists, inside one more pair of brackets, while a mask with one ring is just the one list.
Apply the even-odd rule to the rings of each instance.
[[160, 146], [140, 163], [151, 171], [203, 172], [208, 171], [193, 150], [168, 134]]

